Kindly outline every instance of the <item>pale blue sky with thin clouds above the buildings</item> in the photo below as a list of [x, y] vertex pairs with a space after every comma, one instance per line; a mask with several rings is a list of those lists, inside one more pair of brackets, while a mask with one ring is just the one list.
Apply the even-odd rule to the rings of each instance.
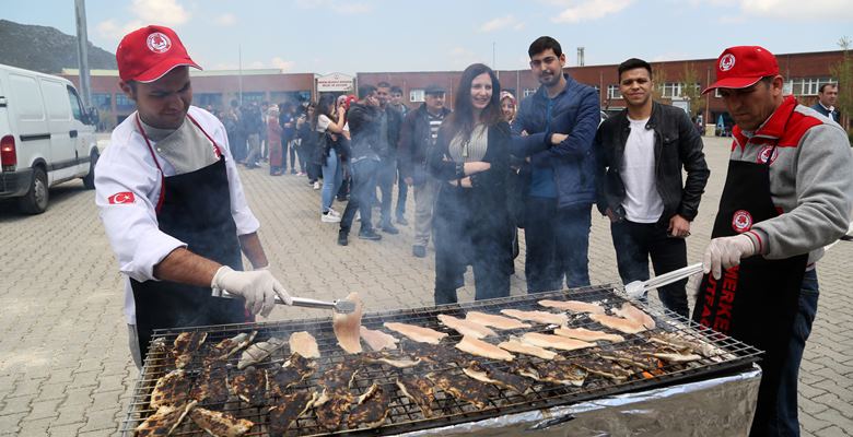
[[[716, 58], [760, 45], [774, 54], [839, 49], [850, 0], [86, 0], [89, 39], [115, 52], [148, 24], [178, 33], [206, 70], [290, 73], [526, 69], [541, 35], [568, 66]], [[75, 34], [74, 0], [0, 0], [0, 19]]]

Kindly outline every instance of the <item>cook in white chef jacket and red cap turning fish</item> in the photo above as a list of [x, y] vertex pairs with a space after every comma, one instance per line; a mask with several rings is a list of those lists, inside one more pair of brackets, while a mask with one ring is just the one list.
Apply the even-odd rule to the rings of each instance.
[[[174, 31], [148, 26], [116, 50], [137, 111], [95, 168], [96, 203], [121, 273], [137, 366], [154, 329], [244, 322], [291, 298], [267, 270], [222, 123], [191, 106], [190, 59]], [[254, 271], [243, 272], [242, 256]], [[237, 299], [214, 297], [227, 291]]]

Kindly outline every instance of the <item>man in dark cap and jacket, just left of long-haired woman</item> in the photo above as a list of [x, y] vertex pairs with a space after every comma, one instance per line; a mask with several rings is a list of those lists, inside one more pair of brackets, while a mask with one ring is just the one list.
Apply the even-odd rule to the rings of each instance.
[[424, 103], [410, 111], [400, 129], [398, 166], [406, 185], [414, 191], [414, 257], [426, 256], [432, 231], [432, 209], [439, 193], [439, 181], [426, 172], [429, 150], [435, 144], [439, 128], [451, 110], [444, 107], [444, 88], [430, 85], [424, 91]]

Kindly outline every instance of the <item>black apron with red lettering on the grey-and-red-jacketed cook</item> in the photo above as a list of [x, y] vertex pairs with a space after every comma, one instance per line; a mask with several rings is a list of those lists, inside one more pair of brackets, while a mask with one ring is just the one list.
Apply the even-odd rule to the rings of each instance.
[[[779, 215], [770, 194], [770, 163], [729, 161], [712, 238], [749, 231]], [[764, 436], [776, 414], [782, 364], [787, 356], [808, 253], [782, 260], [755, 256], [723, 270], [720, 280], [704, 275], [693, 320], [766, 351], [761, 386], [750, 435]]]

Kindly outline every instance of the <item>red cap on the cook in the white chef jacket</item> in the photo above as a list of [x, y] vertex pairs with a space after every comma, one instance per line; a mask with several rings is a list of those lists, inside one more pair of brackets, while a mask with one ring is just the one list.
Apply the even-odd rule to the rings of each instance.
[[179, 66], [201, 70], [189, 58], [175, 31], [154, 25], [125, 35], [116, 49], [116, 61], [118, 75], [125, 82], [154, 82]]

